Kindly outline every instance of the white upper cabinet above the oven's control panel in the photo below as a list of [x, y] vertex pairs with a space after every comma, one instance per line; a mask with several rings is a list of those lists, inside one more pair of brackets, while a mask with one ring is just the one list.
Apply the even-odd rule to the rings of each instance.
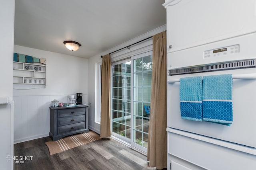
[[256, 0], [166, 0], [163, 5], [167, 53], [256, 31]]

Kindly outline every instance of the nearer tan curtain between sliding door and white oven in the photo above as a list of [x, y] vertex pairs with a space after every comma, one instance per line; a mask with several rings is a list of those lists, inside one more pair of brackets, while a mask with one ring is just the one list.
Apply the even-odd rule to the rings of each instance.
[[153, 36], [153, 68], [148, 135], [149, 165], [166, 168], [166, 31]]

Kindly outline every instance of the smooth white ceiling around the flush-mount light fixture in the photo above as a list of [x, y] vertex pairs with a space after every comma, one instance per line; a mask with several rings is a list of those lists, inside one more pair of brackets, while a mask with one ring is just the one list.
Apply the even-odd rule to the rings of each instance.
[[[89, 58], [166, 24], [164, 0], [16, 0], [14, 45]], [[66, 49], [63, 41], [82, 46]]]

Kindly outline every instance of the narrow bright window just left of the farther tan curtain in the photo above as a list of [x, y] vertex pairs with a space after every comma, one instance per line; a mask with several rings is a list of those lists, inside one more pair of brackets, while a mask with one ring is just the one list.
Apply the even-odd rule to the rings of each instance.
[[94, 122], [100, 124], [101, 107], [101, 62], [95, 63], [95, 108]]

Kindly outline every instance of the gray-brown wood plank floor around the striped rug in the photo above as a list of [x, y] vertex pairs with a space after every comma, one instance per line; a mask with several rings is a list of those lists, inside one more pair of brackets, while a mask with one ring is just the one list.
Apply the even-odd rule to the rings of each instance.
[[50, 137], [14, 145], [14, 156], [33, 156], [15, 163], [14, 170], [152, 170], [146, 156], [113, 139], [100, 139], [50, 155]]

